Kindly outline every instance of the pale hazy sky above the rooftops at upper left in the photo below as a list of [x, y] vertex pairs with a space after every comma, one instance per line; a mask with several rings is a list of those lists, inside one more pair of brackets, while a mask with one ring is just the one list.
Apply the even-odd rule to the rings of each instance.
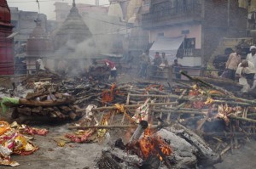
[[[101, 5], [109, 4], [108, 0], [99, 0]], [[40, 13], [47, 14], [48, 20], [55, 20], [55, 2], [73, 3], [73, 0], [38, 0]], [[23, 11], [39, 12], [37, 0], [7, 0], [9, 7], [18, 7]], [[95, 4], [95, 0], [76, 0], [76, 3]]]

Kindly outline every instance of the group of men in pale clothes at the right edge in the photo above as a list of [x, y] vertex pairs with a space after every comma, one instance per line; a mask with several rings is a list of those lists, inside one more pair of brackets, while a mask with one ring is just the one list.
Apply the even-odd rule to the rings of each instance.
[[226, 62], [224, 77], [238, 81], [247, 86], [248, 90], [253, 90], [256, 87], [256, 47], [250, 47], [250, 54], [247, 54], [247, 59], [241, 59], [241, 47], [236, 48], [235, 53], [231, 53]]

